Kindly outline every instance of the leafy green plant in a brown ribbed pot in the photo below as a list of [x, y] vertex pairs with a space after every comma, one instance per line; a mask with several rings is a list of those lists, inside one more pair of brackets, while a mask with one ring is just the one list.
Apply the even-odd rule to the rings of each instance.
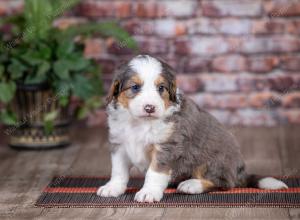
[[[90, 34], [136, 44], [114, 22], [66, 29], [53, 21], [79, 0], [25, 0], [24, 12], [0, 25], [0, 120], [13, 147], [52, 148], [70, 143], [74, 115], [83, 118], [101, 105], [100, 69], [84, 57]], [[76, 108], [70, 108], [76, 100]]]

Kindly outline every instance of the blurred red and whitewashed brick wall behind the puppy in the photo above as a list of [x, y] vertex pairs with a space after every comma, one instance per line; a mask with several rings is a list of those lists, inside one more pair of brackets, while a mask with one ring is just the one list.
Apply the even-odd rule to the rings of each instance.
[[[20, 4], [0, 0], [0, 15]], [[179, 87], [222, 122], [300, 123], [299, 0], [83, 0], [55, 25], [110, 19], [134, 35], [141, 53], [168, 61]], [[86, 44], [107, 89], [116, 65], [133, 54], [112, 39]]]

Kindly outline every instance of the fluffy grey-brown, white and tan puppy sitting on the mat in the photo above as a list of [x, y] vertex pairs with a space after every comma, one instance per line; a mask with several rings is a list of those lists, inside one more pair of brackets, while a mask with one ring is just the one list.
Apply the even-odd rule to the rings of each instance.
[[117, 197], [132, 166], [145, 173], [135, 201], [160, 201], [171, 179], [178, 192], [204, 193], [233, 187], [281, 189], [272, 177], [248, 175], [233, 135], [176, 88], [174, 70], [148, 55], [134, 57], [115, 74], [107, 113], [110, 181], [97, 195]]

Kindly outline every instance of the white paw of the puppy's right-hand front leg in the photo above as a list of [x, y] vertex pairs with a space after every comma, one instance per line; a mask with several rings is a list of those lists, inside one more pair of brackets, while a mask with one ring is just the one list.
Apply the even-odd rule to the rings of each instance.
[[159, 202], [163, 197], [161, 190], [153, 190], [149, 188], [142, 188], [135, 194], [134, 201], [137, 202]]

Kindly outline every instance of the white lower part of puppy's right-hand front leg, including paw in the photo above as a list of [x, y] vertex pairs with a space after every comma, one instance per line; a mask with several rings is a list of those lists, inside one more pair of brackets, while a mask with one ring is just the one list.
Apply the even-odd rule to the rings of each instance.
[[146, 173], [144, 186], [136, 193], [134, 200], [138, 202], [160, 201], [170, 179], [170, 175], [158, 173], [149, 168]]

